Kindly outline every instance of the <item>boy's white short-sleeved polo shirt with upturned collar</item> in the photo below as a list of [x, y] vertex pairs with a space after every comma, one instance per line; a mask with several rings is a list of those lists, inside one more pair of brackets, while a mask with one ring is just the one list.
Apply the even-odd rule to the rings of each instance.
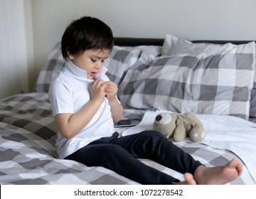
[[[109, 78], [105, 75], [106, 71], [107, 68], [102, 68], [102, 72], [97, 77], [101, 80], [109, 81]], [[56, 114], [74, 114], [78, 112], [90, 100], [89, 86], [92, 82], [93, 80], [87, 79], [87, 72], [85, 70], [78, 68], [68, 60], [63, 71], [50, 84], [48, 95], [53, 110], [53, 117]], [[110, 105], [107, 98], [105, 98], [95, 116], [72, 139], [65, 139], [58, 133], [55, 147], [59, 158], [65, 158], [91, 141], [100, 139], [103, 136], [112, 136], [113, 133], [114, 123], [110, 112]]]

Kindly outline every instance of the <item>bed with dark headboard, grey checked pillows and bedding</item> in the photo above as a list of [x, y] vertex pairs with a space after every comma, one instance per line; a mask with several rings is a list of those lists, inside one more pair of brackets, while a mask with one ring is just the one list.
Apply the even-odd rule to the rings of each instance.
[[[243, 173], [229, 184], [256, 184], [256, 76], [254, 41], [115, 38], [105, 61], [119, 86], [121, 136], [151, 129], [159, 112], [193, 112], [206, 139], [175, 143], [207, 166], [236, 157]], [[51, 80], [63, 68], [57, 43], [41, 68], [34, 92], [0, 99], [0, 184], [137, 184], [102, 167], [58, 159], [57, 129], [48, 101]], [[154, 161], [142, 162], [182, 180]]]

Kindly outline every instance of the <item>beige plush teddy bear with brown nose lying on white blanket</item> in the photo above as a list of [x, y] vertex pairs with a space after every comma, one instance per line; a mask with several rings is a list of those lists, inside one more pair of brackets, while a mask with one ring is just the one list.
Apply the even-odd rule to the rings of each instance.
[[199, 142], [206, 137], [203, 124], [191, 112], [169, 113], [162, 112], [156, 115], [153, 129], [161, 132], [168, 139], [174, 137], [174, 141], [183, 141], [188, 136], [191, 141]]

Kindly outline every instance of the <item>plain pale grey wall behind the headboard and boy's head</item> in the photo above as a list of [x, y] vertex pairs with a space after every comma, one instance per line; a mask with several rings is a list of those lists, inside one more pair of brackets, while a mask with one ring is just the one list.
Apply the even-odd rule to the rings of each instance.
[[[95, 16], [114, 36], [256, 40], [255, 0], [32, 0], [36, 75], [71, 20]], [[36, 76], [35, 76], [36, 77]]]

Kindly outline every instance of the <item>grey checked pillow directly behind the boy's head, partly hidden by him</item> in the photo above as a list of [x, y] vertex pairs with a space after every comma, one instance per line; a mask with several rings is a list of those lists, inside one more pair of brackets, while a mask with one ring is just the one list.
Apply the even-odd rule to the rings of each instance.
[[[105, 60], [105, 67], [108, 68], [107, 76], [118, 85], [124, 76], [124, 72], [137, 62], [142, 53], [150, 54], [150, 57], [154, 57], [161, 53], [161, 46], [120, 47], [114, 45], [112, 52]], [[57, 43], [41, 68], [36, 81], [35, 92], [48, 92], [50, 82], [60, 73], [64, 65], [65, 60], [61, 53], [61, 45]]]

